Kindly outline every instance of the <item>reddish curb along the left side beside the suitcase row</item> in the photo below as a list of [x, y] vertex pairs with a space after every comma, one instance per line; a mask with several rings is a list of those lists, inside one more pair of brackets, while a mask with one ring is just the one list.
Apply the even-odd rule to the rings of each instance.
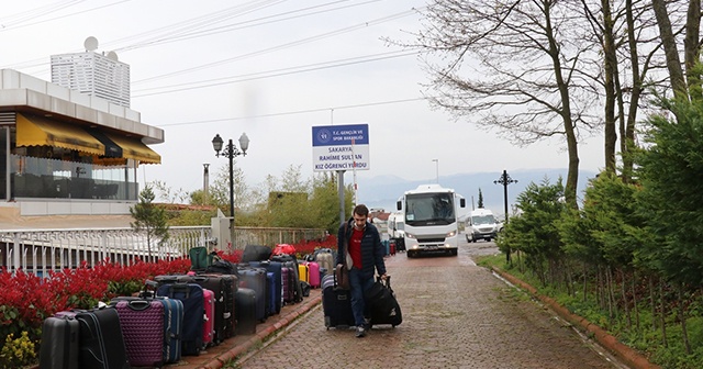
[[256, 345], [259, 345], [263, 342], [265, 342], [268, 337], [274, 336], [278, 331], [286, 327], [287, 325], [295, 321], [299, 316], [305, 314], [306, 312], [312, 310], [314, 306], [316, 306], [321, 302], [322, 302], [322, 294], [319, 294], [315, 298], [309, 299], [303, 303], [303, 306], [301, 309], [295, 309], [289, 312], [283, 317], [278, 320], [275, 324], [269, 325], [266, 328], [252, 335], [252, 337], [247, 339], [245, 343], [237, 345], [232, 349], [216, 356], [215, 358], [211, 359], [208, 362], [204, 362], [198, 368], [199, 369], [222, 368], [224, 367], [225, 364], [235, 361], [237, 357], [249, 351], [252, 347], [255, 347]]

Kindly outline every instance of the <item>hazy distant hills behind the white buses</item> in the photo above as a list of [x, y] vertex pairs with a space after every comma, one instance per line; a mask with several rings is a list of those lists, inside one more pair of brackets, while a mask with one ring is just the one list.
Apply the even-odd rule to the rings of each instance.
[[[543, 183], [548, 180], [549, 183], [556, 183], [559, 177], [562, 183], [566, 181], [567, 169], [522, 169], [507, 172], [510, 177], [517, 180], [516, 183], [507, 186], [507, 204], [509, 212], [515, 203], [517, 195], [525, 188], [534, 183]], [[472, 208], [478, 208], [479, 189], [483, 194], [483, 208], [490, 209], [493, 213], [502, 217], [504, 213], [503, 185], [493, 183], [502, 175], [502, 171], [495, 172], [476, 172], [476, 174], [458, 174], [453, 176], [439, 177], [439, 185], [445, 188], [453, 188], [457, 193], [464, 195], [467, 202], [467, 212]], [[596, 172], [581, 170], [579, 171], [579, 186], [577, 195], [579, 200], [583, 198], [583, 191], [588, 181], [594, 178]], [[347, 179], [345, 179], [347, 180]], [[408, 190], [417, 188], [420, 185], [434, 183], [436, 179], [429, 180], [405, 180], [395, 176], [377, 176], [372, 178], [358, 179], [358, 201], [366, 204], [369, 209], [384, 209], [387, 212], [395, 210], [395, 201]]]

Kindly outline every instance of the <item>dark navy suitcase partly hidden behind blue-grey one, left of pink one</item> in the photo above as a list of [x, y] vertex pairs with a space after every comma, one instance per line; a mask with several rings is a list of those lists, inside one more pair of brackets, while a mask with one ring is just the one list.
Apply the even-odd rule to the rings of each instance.
[[156, 295], [183, 303], [181, 355], [200, 355], [205, 309], [202, 287], [196, 283], [166, 283], [156, 290]]

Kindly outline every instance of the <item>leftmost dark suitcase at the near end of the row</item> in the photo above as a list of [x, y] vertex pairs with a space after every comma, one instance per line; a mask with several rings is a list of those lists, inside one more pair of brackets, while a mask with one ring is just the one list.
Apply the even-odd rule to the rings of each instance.
[[40, 369], [78, 369], [79, 325], [75, 316], [49, 316], [42, 324]]

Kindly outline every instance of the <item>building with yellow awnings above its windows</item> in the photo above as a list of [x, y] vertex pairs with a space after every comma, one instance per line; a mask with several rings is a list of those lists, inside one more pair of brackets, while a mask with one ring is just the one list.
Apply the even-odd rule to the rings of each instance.
[[0, 212], [129, 214], [136, 170], [161, 163], [149, 147], [160, 143], [127, 107], [0, 69]]

